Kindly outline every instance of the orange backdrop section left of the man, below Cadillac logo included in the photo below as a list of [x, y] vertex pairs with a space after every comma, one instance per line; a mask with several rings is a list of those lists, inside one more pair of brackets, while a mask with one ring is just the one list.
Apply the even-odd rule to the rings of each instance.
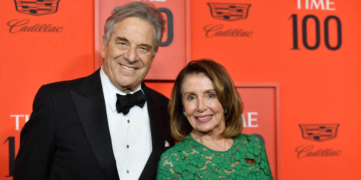
[[0, 179], [10, 180], [40, 86], [94, 72], [94, 5], [4, 0], [0, 9]]

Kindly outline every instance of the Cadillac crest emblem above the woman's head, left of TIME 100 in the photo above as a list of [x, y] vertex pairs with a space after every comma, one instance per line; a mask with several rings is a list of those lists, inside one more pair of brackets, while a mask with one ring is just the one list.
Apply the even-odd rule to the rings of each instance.
[[212, 17], [225, 21], [245, 19], [251, 4], [208, 3]]

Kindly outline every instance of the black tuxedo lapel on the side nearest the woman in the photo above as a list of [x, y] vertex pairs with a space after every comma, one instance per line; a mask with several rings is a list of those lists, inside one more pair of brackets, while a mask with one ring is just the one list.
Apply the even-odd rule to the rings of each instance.
[[[147, 164], [143, 169], [142, 174], [140, 175], [139, 179], [151, 179], [152, 176], [156, 172], [157, 164], [158, 164], [158, 157], [160, 153], [162, 153], [162, 149], [164, 149], [164, 139], [162, 130], [158, 130], [157, 127], [161, 127], [157, 125], [156, 120], [160, 120], [159, 117], [160, 113], [158, 113], [158, 105], [156, 103], [156, 99], [154, 99], [148, 90], [148, 87], [142, 83], [142, 90], [144, 91], [145, 98], [147, 99], [147, 107], [148, 107], [148, 114], [149, 114], [149, 123], [151, 126], [151, 135], [152, 135], [152, 153], [148, 158]], [[159, 155], [158, 155], [159, 154]]]

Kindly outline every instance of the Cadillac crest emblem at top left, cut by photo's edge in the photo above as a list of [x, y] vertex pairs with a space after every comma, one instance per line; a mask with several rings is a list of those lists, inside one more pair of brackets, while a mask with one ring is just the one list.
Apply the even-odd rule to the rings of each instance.
[[30, 15], [55, 13], [60, 0], [14, 0], [16, 10]]

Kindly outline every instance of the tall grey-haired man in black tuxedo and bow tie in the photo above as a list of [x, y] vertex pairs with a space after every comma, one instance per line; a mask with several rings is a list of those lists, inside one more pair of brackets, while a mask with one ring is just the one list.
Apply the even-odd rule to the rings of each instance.
[[155, 179], [174, 144], [168, 98], [142, 81], [164, 32], [153, 5], [132, 2], [104, 26], [102, 68], [43, 85], [21, 131], [14, 180]]

